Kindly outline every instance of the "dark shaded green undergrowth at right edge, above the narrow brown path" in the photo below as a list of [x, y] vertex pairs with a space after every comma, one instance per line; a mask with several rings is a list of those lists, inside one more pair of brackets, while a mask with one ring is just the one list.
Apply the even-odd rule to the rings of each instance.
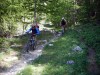
[[80, 36], [88, 47], [92, 47], [95, 52], [95, 58], [100, 68], [100, 26], [96, 23], [87, 23], [77, 27]]

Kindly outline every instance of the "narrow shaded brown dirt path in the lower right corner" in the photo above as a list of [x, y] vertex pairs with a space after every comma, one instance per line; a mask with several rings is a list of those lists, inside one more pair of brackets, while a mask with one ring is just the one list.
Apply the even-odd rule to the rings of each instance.
[[90, 75], [100, 75], [99, 68], [96, 64], [95, 50], [93, 48], [88, 49], [88, 71]]

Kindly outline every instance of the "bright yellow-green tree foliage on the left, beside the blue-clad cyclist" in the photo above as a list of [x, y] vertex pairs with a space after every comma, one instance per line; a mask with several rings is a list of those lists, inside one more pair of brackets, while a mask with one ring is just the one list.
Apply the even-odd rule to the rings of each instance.
[[[3, 8], [3, 9], [2, 9]], [[0, 36], [15, 34], [16, 23], [26, 16], [24, 1], [4, 0], [0, 2]]]

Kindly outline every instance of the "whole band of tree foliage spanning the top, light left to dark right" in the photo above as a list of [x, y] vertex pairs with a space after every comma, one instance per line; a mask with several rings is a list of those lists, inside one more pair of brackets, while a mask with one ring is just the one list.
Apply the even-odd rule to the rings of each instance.
[[[71, 26], [77, 22], [88, 22], [91, 20], [91, 13], [96, 12], [95, 20], [99, 20], [100, 1], [79, 1], [79, 0], [36, 0], [37, 17], [42, 13], [46, 14], [47, 19], [57, 26], [61, 18], [67, 19]], [[93, 10], [92, 10], [93, 9]], [[95, 10], [96, 9], [96, 10]], [[16, 22], [22, 22], [23, 18], [33, 20], [35, 10], [33, 0], [1, 0], [0, 1], [0, 34], [6, 32], [5, 27], [15, 27]], [[92, 19], [92, 20], [94, 20]], [[12, 32], [8, 27], [7, 31]], [[14, 30], [13, 30], [14, 31]]]

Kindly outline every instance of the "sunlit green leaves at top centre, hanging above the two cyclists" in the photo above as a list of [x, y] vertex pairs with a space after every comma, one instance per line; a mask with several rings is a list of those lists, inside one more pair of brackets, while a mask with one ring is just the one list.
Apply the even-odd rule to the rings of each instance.
[[[47, 0], [37, 1], [37, 13], [45, 13], [46, 18], [55, 26], [60, 24], [61, 18], [64, 16], [68, 22], [72, 23], [74, 15], [74, 0]], [[78, 8], [76, 8], [78, 9]]]

